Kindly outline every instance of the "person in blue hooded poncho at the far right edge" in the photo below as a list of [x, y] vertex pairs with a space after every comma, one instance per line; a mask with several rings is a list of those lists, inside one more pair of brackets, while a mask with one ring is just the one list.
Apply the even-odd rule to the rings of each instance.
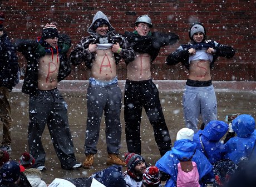
[[249, 114], [242, 114], [232, 122], [236, 134], [225, 144], [225, 157], [238, 164], [243, 157], [255, 158], [255, 120]]

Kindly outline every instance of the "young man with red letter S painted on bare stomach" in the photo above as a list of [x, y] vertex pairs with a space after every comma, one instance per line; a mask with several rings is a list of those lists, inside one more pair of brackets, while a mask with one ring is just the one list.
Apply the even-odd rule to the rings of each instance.
[[189, 70], [183, 94], [183, 111], [186, 127], [196, 133], [200, 115], [204, 124], [217, 120], [217, 100], [210, 70], [218, 57], [232, 58], [235, 50], [213, 40], [206, 40], [206, 31], [201, 23], [191, 25], [189, 38], [189, 44], [182, 44], [168, 55], [166, 64], [181, 62]]

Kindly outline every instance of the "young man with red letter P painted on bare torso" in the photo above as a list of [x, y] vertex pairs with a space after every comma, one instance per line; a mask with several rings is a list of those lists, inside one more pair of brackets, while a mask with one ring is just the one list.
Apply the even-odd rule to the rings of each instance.
[[15, 46], [27, 59], [22, 92], [29, 94], [28, 146], [36, 160], [34, 167], [46, 169], [41, 138], [47, 124], [61, 167], [81, 168], [75, 157], [67, 104], [57, 88], [58, 82], [71, 72], [67, 58], [70, 37], [59, 34], [56, 23], [52, 22], [43, 27], [37, 40], [17, 39]]

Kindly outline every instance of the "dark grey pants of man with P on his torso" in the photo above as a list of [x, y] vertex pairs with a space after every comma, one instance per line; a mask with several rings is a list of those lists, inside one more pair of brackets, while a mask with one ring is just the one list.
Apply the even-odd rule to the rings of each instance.
[[45, 165], [46, 153], [41, 138], [46, 124], [62, 168], [72, 169], [76, 158], [68, 125], [67, 104], [58, 89], [39, 91], [37, 96], [29, 97], [28, 146], [36, 159], [36, 167]]

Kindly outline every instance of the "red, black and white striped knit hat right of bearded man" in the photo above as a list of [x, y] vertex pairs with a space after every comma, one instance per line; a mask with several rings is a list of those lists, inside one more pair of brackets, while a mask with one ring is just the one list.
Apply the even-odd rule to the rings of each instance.
[[157, 187], [160, 185], [160, 171], [156, 166], [150, 166], [146, 168], [145, 173], [143, 174], [142, 183], [146, 187]]

